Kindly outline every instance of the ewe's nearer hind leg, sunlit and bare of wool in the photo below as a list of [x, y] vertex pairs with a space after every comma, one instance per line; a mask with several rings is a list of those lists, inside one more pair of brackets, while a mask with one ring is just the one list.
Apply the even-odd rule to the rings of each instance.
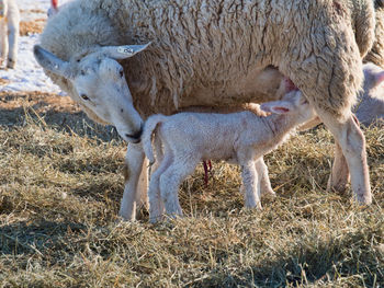
[[[354, 122], [352, 114], [350, 114], [345, 122], [338, 120], [330, 115], [325, 116], [319, 114], [319, 116], [334, 134], [336, 141], [342, 149], [348, 169], [351, 173], [354, 197], [361, 204], [371, 204], [372, 195], [363, 133]], [[338, 161], [340, 161], [340, 159]], [[340, 162], [336, 164], [339, 166]], [[334, 171], [337, 171], [337, 169], [338, 168], [334, 168]]]

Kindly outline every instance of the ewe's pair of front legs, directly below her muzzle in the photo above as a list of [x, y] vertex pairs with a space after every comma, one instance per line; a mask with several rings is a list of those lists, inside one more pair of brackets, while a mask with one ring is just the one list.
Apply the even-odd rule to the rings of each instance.
[[126, 182], [118, 215], [124, 220], [136, 219], [136, 207], [147, 203], [147, 166], [140, 145], [129, 145], [125, 157]]

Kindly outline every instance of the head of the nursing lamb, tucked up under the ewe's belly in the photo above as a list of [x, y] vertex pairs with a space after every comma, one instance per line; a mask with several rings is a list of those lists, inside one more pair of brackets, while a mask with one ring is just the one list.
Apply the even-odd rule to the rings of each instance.
[[286, 93], [280, 101], [263, 103], [260, 108], [274, 114], [293, 115], [297, 125], [316, 117], [314, 108], [300, 90]]

